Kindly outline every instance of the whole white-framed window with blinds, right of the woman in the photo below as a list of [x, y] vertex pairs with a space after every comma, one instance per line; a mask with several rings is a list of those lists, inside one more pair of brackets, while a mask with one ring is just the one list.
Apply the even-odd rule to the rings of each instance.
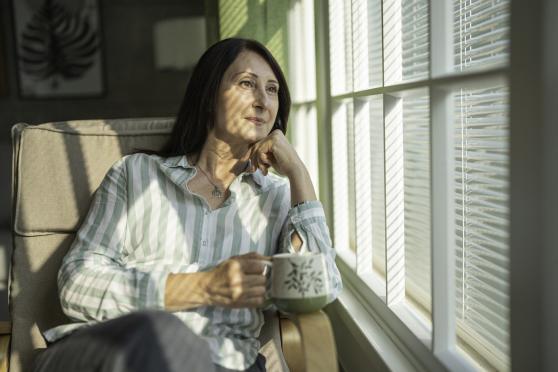
[[328, 2], [334, 245], [450, 369], [510, 369], [508, 23], [508, 0]]

